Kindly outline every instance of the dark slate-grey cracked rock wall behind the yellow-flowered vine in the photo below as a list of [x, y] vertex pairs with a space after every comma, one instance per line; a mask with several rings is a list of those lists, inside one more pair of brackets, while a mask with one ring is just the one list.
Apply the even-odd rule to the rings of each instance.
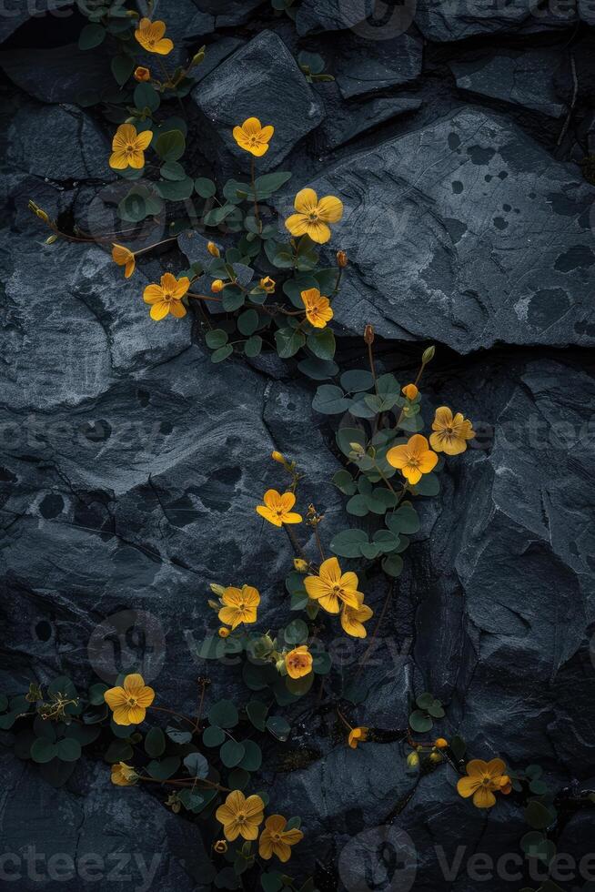
[[[163, 702], [191, 710], [197, 674], [211, 674], [214, 699], [243, 690], [227, 667], [196, 654], [213, 628], [208, 583], [230, 582], [233, 568], [258, 584], [273, 628], [284, 615], [287, 554], [254, 512], [279, 484], [272, 449], [308, 470], [304, 499], [324, 510], [325, 534], [345, 526], [329, 482], [339, 467], [332, 426], [311, 410], [311, 384], [291, 364], [266, 354], [214, 366], [198, 314], [148, 318], [142, 289], [180, 269], [180, 254], [142, 258], [126, 280], [108, 245], [44, 244], [28, 198], [94, 232], [117, 199], [100, 161], [111, 130], [97, 108], [73, 104], [107, 62], [98, 47], [75, 65], [74, 14], [32, 15], [41, 0], [26, 7], [6, 6], [3, 33], [14, 36], [0, 55], [12, 82], [0, 109], [0, 693], [63, 672], [87, 684], [89, 665], [101, 674], [119, 659], [109, 642], [90, 647], [98, 624], [135, 610], [150, 615], [152, 631], [144, 649], [127, 646]], [[421, 508], [362, 673], [367, 697], [349, 713], [388, 739], [354, 752], [334, 712], [310, 709], [287, 745], [271, 746], [263, 785], [280, 812], [303, 817], [309, 842], [292, 863], [308, 873], [316, 858], [324, 892], [369, 888], [370, 877], [399, 892], [519, 892], [538, 884], [469, 872], [471, 855], [519, 852], [527, 825], [518, 802], [479, 815], [457, 796], [452, 769], [408, 775], [390, 735], [429, 689], [447, 709], [439, 733], [463, 735], [473, 755], [502, 755], [515, 769], [539, 763], [556, 790], [595, 786], [595, 189], [576, 163], [593, 120], [592, 14], [587, 3], [577, 13], [423, 0], [378, 21], [375, 9], [302, 0], [295, 27], [260, 0], [171, 0], [157, 10], [172, 18], [180, 57], [207, 43], [193, 175], [237, 175], [245, 158], [231, 127], [255, 114], [273, 123], [260, 169], [283, 161], [294, 171], [287, 198], [311, 185], [345, 202], [328, 251], [345, 248], [350, 260], [335, 304], [341, 363], [366, 362], [360, 338], [346, 336], [368, 322], [378, 370], [403, 382], [421, 343], [435, 341], [427, 416], [448, 404], [478, 431], [442, 471], [439, 498]], [[393, 46], [411, 49], [411, 77], [401, 78]], [[308, 85], [300, 49], [320, 53], [337, 82]], [[577, 96], [560, 138], [571, 57]], [[204, 251], [196, 240], [191, 259]], [[183, 237], [180, 248], [190, 258]], [[385, 586], [373, 578], [367, 590], [377, 615]], [[354, 644], [345, 674], [365, 649]], [[85, 885], [64, 875], [68, 861], [50, 859], [78, 869], [93, 856], [91, 869], [114, 869], [117, 855], [129, 856], [118, 889], [132, 892], [157, 853], [150, 888], [212, 887], [200, 825], [160, 796], [115, 796], [96, 755], [56, 791], [4, 743], [0, 854], [14, 853], [23, 876], [0, 885], [103, 888], [107, 880]], [[558, 829], [561, 853], [590, 853], [592, 813]], [[41, 878], [26, 873], [32, 846], [44, 856]], [[585, 878], [562, 883], [564, 892], [590, 892]]]

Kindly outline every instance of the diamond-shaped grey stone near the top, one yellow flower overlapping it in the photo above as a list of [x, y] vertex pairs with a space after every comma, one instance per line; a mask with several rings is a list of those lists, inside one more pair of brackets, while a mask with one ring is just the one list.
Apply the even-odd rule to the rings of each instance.
[[249, 159], [237, 147], [232, 130], [247, 117], [258, 117], [276, 131], [267, 154], [258, 161], [259, 170], [277, 167], [322, 120], [316, 94], [283, 41], [270, 31], [261, 32], [229, 56], [193, 96], [242, 167], [249, 166]]

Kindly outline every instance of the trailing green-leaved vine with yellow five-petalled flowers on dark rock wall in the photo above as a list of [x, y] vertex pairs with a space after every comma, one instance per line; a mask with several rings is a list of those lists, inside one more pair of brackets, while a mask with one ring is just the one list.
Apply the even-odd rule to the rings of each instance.
[[[291, 10], [287, 0], [273, 5]], [[343, 203], [306, 187], [292, 195], [287, 218], [277, 213], [276, 197], [292, 174], [257, 172], [258, 159], [274, 144], [273, 126], [257, 117], [237, 121], [233, 139], [238, 159], [249, 161], [245, 179], [221, 185], [187, 169], [181, 100], [195, 86], [192, 73], [205, 48], [172, 70], [167, 56], [174, 44], [166, 23], [123, 13], [119, 4], [89, 14], [79, 45], [93, 48], [105, 40], [114, 46], [117, 89], [104, 111], [116, 127], [109, 166], [125, 187], [117, 206], [121, 226], [100, 237], [78, 226], [64, 228], [31, 201], [51, 230], [47, 241], [57, 242], [56, 249], [61, 239], [109, 245], [126, 279], [152, 250], [179, 248], [187, 269], [166, 270], [142, 294], [139, 289], [146, 324], [179, 324], [196, 306], [213, 363], [254, 360], [273, 350], [281, 360], [297, 358], [298, 370], [317, 384], [313, 410], [340, 420], [336, 440], [344, 467], [333, 482], [355, 522], [328, 538], [322, 507], [300, 499], [309, 469], [274, 451], [271, 469], [278, 474], [271, 472], [270, 487], [254, 508], [277, 528], [280, 542], [287, 536], [286, 620], [271, 633], [254, 580], [237, 579], [233, 568], [222, 567], [222, 582], [211, 585], [208, 601], [212, 634], [197, 646], [202, 660], [239, 661], [246, 688], [241, 699], [214, 700], [203, 677], [196, 711], [179, 713], [175, 704], [156, 704], [158, 692], [130, 666], [111, 688], [95, 683], [81, 692], [60, 677], [45, 687], [32, 685], [27, 694], [2, 697], [0, 728], [14, 729], [16, 755], [40, 765], [55, 786], [66, 782], [85, 747], [111, 765], [115, 786], [155, 787], [166, 806], [200, 822], [217, 887], [308, 892], [316, 888], [314, 875], [295, 877], [285, 865], [294, 846], [313, 846], [314, 840], [298, 815], [278, 813], [263, 780], [263, 760], [274, 752], [271, 745], [285, 745], [292, 707], [308, 696], [310, 708], [334, 713], [337, 736], [351, 749], [385, 739], [387, 729], [366, 724], [362, 671], [369, 649], [355, 676], [346, 679], [334, 671], [328, 642], [337, 634], [370, 641], [378, 635], [403, 555], [420, 528], [416, 503], [438, 495], [444, 462], [467, 450], [474, 431], [463, 412], [447, 406], [435, 411], [430, 424], [423, 418], [422, 381], [434, 347], [423, 350], [415, 380], [398, 381], [378, 369], [368, 325], [362, 333], [365, 367], [339, 369], [330, 323], [348, 258], [339, 248], [328, 259], [325, 246]], [[324, 79], [318, 62], [304, 57], [302, 63], [307, 76]], [[190, 208], [191, 198], [197, 207]], [[160, 236], [135, 247], [130, 225], [134, 236], [146, 221]], [[388, 590], [379, 612], [366, 601], [375, 573], [384, 574]], [[460, 775], [459, 795], [482, 809], [496, 805], [496, 794], [525, 791], [533, 829], [522, 845], [548, 863], [547, 829], [555, 813], [536, 766], [515, 775], [499, 758], [468, 760], [459, 736], [424, 739], [444, 716], [429, 692], [410, 704], [408, 727], [396, 733], [408, 770], [450, 765]]]

